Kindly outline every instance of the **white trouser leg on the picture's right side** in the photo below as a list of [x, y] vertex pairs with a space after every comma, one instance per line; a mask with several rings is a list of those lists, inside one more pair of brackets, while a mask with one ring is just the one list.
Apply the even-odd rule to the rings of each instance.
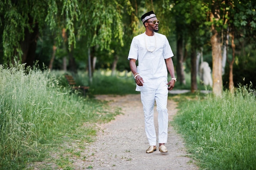
[[156, 90], [155, 101], [158, 112], [158, 142], [167, 143], [168, 137], [168, 110], [167, 110], [168, 89], [166, 84]]

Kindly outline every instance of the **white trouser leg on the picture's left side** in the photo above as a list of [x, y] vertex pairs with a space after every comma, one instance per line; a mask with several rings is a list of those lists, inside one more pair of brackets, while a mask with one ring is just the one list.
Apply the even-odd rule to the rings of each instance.
[[143, 105], [145, 118], [145, 131], [150, 146], [156, 145], [156, 134], [154, 125], [155, 91], [141, 91], [141, 103]]

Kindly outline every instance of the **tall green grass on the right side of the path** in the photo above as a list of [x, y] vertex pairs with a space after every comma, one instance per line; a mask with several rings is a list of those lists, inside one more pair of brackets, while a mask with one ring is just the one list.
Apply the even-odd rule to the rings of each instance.
[[179, 103], [174, 124], [202, 169], [256, 170], [256, 99], [244, 87], [235, 94]]

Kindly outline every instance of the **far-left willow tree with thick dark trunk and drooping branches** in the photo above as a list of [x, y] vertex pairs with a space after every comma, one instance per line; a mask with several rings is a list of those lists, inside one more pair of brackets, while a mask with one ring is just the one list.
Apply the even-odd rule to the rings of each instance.
[[[77, 16], [76, 6], [77, 0], [64, 2], [5, 0], [0, 2], [2, 48], [5, 62], [19, 60], [27, 63], [27, 66], [32, 66], [38, 36], [46, 26], [52, 30], [57, 27], [66, 27], [71, 33], [74, 32], [73, 18]], [[72, 19], [64, 19], [62, 24], [57, 26], [56, 20], [61, 21], [61, 18]], [[69, 40], [70, 44], [74, 42], [74, 35], [71, 34]]]

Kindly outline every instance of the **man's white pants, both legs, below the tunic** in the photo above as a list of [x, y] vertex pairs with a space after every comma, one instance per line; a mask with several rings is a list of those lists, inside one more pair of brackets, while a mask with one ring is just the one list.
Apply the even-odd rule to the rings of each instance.
[[154, 105], [157, 104], [158, 112], [158, 143], [167, 142], [168, 113], [167, 113], [167, 85], [163, 84], [154, 91], [141, 91], [141, 103], [143, 104], [145, 117], [145, 131], [150, 146], [156, 146], [156, 133], [154, 125]]

